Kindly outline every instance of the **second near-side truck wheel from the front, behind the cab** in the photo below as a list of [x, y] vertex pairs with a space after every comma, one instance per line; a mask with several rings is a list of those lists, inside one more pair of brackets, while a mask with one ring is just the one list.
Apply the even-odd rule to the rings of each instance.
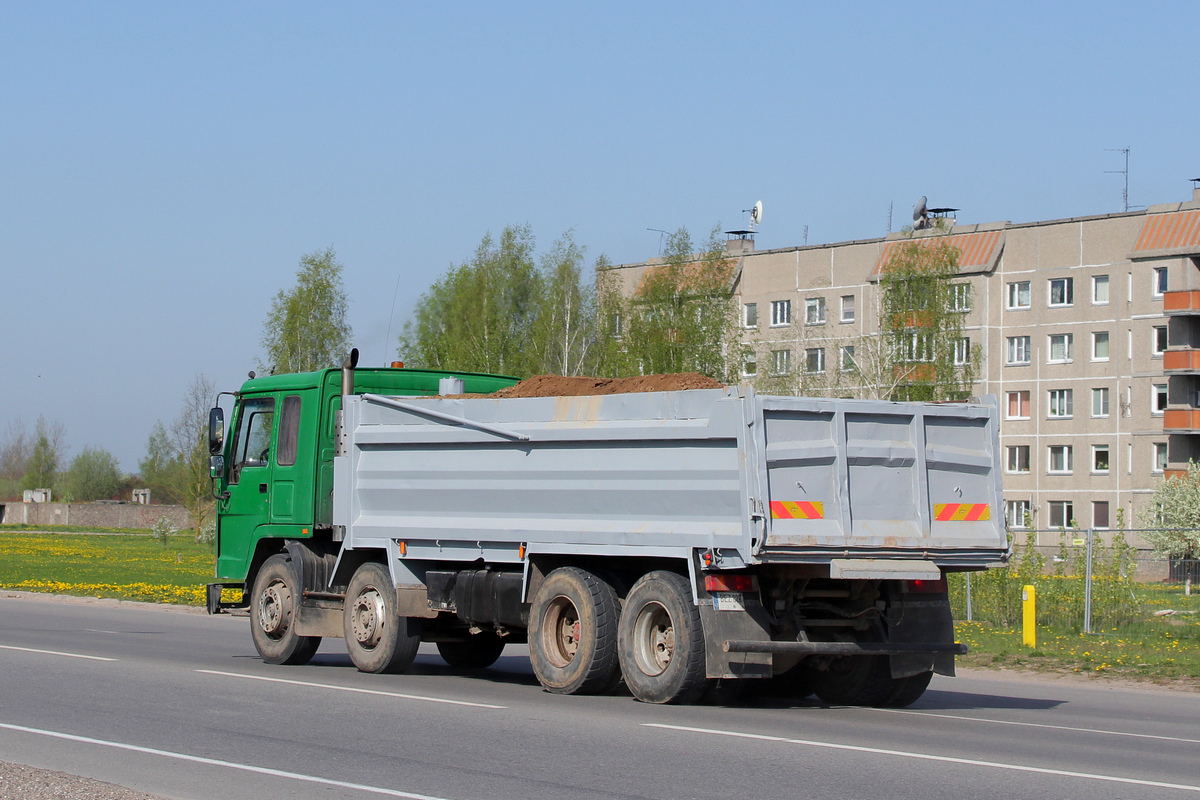
[[404, 672], [421, 644], [420, 622], [396, 614], [391, 576], [373, 561], [360, 566], [346, 588], [342, 630], [346, 650], [360, 672]]

